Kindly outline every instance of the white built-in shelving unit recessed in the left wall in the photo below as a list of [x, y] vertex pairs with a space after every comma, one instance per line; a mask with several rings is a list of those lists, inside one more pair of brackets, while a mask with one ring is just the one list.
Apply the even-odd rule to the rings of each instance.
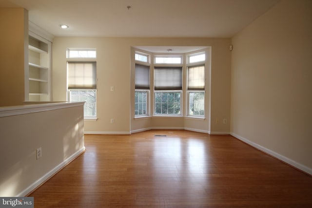
[[29, 31], [26, 101], [51, 101], [51, 45], [50, 41]]

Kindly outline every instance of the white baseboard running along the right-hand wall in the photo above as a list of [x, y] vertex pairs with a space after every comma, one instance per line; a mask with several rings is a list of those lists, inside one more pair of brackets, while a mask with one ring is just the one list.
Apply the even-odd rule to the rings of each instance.
[[275, 158], [277, 158], [277, 159], [279, 159], [279, 160], [281, 160], [281, 161], [283, 161], [283, 162], [285, 162], [285, 163], [287, 163], [287, 164], [289, 164], [289, 165], [291, 165], [291, 166], [293, 166], [299, 170], [302, 170], [303, 172], [306, 172], [306, 173], [312, 175], [312, 169], [307, 167], [307, 166], [304, 166], [304, 165], [302, 165], [296, 161], [293, 161], [292, 159], [285, 157], [285, 156], [283, 156], [283, 155], [281, 155], [275, 151], [272, 151], [272, 150], [269, 150], [265, 147], [262, 147], [261, 145], [258, 145], [258, 144], [254, 143], [254, 142], [252, 142], [252, 141], [250, 141], [250, 140], [248, 140], [242, 136], [239, 136], [233, 132], [231, 132], [231, 135], [234, 136], [235, 138], [253, 146], [254, 148], [256, 148], [260, 151], [263, 151], [263, 152], [265, 152], [265, 153], [267, 153], [267, 154], [269, 154], [269, 155], [271, 155], [271, 156], [273, 156], [273, 157], [275, 157]]

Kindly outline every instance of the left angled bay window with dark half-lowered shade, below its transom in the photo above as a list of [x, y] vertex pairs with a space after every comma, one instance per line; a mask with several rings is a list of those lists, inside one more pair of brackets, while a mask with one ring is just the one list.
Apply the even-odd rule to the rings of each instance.
[[148, 115], [148, 93], [150, 90], [150, 67], [136, 64], [135, 116]]

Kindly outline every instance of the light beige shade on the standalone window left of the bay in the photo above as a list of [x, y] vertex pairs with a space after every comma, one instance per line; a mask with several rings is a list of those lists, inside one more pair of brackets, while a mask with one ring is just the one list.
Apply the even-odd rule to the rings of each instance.
[[68, 89], [97, 89], [97, 62], [67, 62]]

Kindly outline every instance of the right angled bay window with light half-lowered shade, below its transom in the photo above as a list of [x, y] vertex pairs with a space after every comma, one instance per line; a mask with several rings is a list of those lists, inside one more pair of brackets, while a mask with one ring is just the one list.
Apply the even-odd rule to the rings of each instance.
[[187, 72], [188, 114], [205, 115], [205, 66], [189, 66]]

